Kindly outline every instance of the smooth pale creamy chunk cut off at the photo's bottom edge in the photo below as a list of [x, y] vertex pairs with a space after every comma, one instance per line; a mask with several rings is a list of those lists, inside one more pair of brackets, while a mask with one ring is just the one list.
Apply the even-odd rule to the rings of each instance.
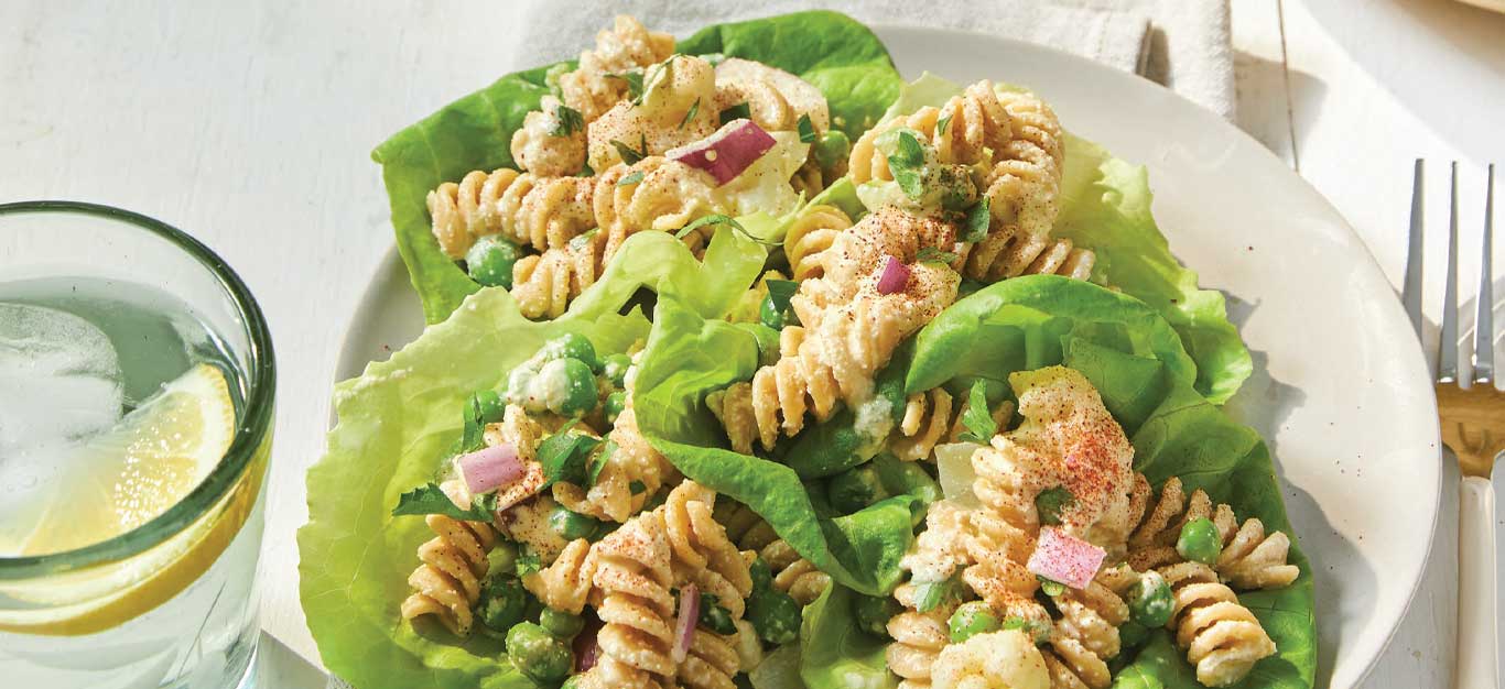
[[936, 656], [935, 689], [1049, 689], [1044, 656], [1019, 630], [978, 633]]

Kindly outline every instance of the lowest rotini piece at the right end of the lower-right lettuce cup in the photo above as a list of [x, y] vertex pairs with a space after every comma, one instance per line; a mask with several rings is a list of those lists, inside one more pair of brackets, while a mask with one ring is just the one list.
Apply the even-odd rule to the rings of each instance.
[[1180, 563], [1159, 570], [1171, 584], [1171, 630], [1196, 666], [1196, 681], [1228, 686], [1249, 674], [1260, 659], [1275, 654], [1275, 642], [1260, 620], [1201, 563]]

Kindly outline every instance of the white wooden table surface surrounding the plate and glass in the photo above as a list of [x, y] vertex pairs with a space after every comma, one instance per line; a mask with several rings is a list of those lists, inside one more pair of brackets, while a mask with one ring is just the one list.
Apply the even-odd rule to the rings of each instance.
[[[0, 3], [0, 202], [81, 199], [173, 223], [220, 251], [271, 319], [281, 375], [263, 624], [313, 660], [293, 542], [303, 474], [322, 451], [336, 344], [391, 242], [367, 155], [513, 69], [507, 41], [521, 30], [516, 3], [396, 5]], [[1239, 125], [1338, 206], [1391, 278], [1413, 158], [1463, 162], [1472, 245], [1482, 162], [1505, 162], [1505, 17], [1446, 0], [1233, 5]], [[1431, 171], [1445, 190], [1445, 165]], [[1445, 227], [1440, 200], [1430, 217]], [[1464, 257], [1469, 283], [1475, 269]], [[1449, 686], [1454, 484], [1427, 576], [1367, 687]], [[268, 647], [263, 686], [319, 686], [287, 648]]]

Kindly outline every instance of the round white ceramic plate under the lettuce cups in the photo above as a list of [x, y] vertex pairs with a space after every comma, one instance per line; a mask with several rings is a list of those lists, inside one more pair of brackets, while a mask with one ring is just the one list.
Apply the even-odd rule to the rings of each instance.
[[[1150, 167], [1154, 215], [1228, 310], [1255, 375], [1228, 405], [1270, 442], [1317, 582], [1318, 686], [1359, 683], [1401, 620], [1437, 518], [1437, 414], [1421, 348], [1368, 250], [1258, 141], [1139, 77], [960, 32], [880, 29], [906, 77], [1040, 92], [1073, 132]], [[396, 251], [355, 313], [339, 376], [421, 329]]]

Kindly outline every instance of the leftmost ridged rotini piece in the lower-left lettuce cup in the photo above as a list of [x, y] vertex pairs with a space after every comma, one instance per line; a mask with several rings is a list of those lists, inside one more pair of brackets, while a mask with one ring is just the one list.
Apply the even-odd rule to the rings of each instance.
[[456, 636], [467, 636], [474, 624], [471, 606], [480, 599], [480, 582], [486, 576], [486, 554], [495, 546], [497, 533], [489, 524], [444, 514], [429, 514], [424, 524], [435, 536], [418, 546], [423, 564], [408, 576], [412, 594], [402, 602], [402, 617], [433, 615]]

